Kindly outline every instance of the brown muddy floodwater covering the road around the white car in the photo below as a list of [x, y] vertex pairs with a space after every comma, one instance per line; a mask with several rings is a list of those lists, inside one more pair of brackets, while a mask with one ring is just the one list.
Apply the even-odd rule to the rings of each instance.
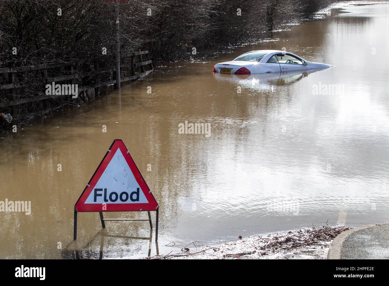
[[[31, 214], [0, 212], [0, 258], [75, 258], [76, 247], [81, 258], [147, 256], [149, 241], [131, 238], [148, 237], [147, 222], [109, 221], [102, 231], [98, 213], [80, 213], [73, 242], [74, 204], [117, 138], [159, 203], [160, 253], [327, 220], [388, 220], [388, 16], [389, 4], [333, 9], [270, 41], [157, 65], [121, 93], [2, 138], [0, 200], [31, 201]], [[211, 72], [246, 51], [282, 47], [335, 67], [248, 78]], [[331, 85], [338, 89], [315, 92]], [[210, 136], [179, 134], [185, 121], [210, 123]]]

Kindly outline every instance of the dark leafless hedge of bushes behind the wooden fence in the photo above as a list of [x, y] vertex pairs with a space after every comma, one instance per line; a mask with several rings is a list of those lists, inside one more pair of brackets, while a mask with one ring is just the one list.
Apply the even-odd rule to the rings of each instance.
[[[175, 60], [244, 44], [328, 6], [331, 0], [130, 0], [120, 3], [122, 53], [149, 49]], [[2, 67], [100, 56], [114, 51], [114, 3], [97, 0], [3, 0]], [[61, 9], [61, 11], [58, 11]], [[60, 14], [60, 15], [58, 15]], [[12, 47], [18, 53], [12, 54]]]

